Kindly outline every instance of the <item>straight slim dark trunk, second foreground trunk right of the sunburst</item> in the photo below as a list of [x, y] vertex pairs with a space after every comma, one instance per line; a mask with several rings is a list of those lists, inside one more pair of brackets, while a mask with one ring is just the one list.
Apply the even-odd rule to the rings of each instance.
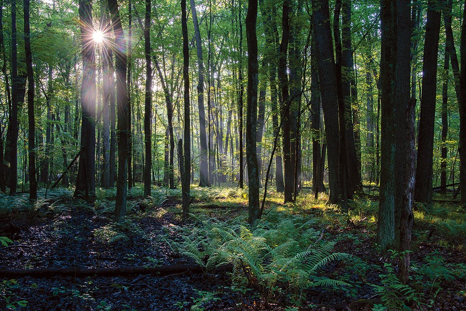
[[150, 196], [150, 174], [152, 171], [152, 64], [150, 60], [150, 0], [146, 0], [144, 18], [144, 52], [146, 56], [146, 96], [144, 102], [144, 143], [146, 148], [144, 161], [144, 196]]

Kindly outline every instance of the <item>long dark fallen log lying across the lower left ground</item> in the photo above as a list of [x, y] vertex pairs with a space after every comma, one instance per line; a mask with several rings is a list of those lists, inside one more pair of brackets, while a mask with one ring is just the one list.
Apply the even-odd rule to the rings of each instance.
[[[232, 266], [225, 265], [216, 268], [215, 272], [231, 271]], [[39, 277], [53, 276], [130, 276], [130, 275], [157, 275], [167, 276], [183, 273], [204, 273], [206, 269], [196, 265], [166, 265], [158, 267], [124, 267], [124, 268], [36, 268], [36, 269], [0, 269], [0, 278], [3, 277]]]

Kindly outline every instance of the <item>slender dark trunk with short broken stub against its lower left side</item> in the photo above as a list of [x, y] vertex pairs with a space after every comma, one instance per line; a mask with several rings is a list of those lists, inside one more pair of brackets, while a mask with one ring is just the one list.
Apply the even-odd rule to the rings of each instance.
[[[191, 150], [190, 150], [190, 121], [189, 121], [189, 47], [188, 27], [186, 23], [186, 0], [181, 0], [181, 24], [183, 30], [183, 99], [184, 99], [184, 149], [182, 170], [182, 193], [183, 193], [183, 217], [189, 212], [190, 191], [189, 181], [191, 177]], [[180, 159], [182, 161], [182, 159]]]

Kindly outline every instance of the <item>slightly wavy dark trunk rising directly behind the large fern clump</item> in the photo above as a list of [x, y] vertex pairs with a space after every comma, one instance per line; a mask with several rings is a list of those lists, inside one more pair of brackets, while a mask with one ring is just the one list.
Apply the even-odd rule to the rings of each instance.
[[252, 225], [259, 217], [259, 170], [256, 153], [257, 85], [259, 82], [257, 56], [257, 0], [248, 1], [246, 38], [248, 41], [248, 104], [246, 110], [246, 161], [249, 179], [249, 217]]

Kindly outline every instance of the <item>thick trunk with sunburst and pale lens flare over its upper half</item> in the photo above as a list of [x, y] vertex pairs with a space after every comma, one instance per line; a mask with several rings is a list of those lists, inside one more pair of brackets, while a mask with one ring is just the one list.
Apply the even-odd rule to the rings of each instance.
[[87, 201], [96, 198], [95, 150], [96, 150], [96, 56], [92, 40], [92, 5], [79, 1], [81, 29], [81, 53], [83, 55], [83, 84], [81, 86], [81, 148], [76, 180], [75, 197]]

